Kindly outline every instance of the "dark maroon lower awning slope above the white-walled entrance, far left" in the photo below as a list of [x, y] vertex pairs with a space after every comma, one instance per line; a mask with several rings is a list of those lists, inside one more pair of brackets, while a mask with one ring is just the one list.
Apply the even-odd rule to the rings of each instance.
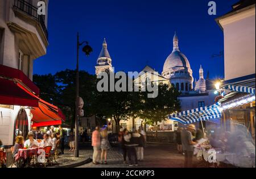
[[0, 78], [0, 104], [38, 107], [38, 98], [14, 81]]

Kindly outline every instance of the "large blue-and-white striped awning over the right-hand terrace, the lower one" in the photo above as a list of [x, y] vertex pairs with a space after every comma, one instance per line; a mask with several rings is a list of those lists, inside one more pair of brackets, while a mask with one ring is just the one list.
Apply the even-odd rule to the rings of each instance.
[[200, 120], [210, 120], [221, 118], [220, 103], [212, 106], [199, 107], [197, 109], [182, 111], [168, 116], [168, 119], [176, 120], [183, 124], [199, 122]]

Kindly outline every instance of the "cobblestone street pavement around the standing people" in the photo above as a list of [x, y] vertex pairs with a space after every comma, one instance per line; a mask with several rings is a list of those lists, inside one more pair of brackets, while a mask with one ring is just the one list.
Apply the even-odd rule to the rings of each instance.
[[[81, 151], [83, 155], [92, 157], [92, 150]], [[174, 144], [147, 144], [144, 150], [144, 160], [139, 161], [138, 168], [181, 168], [183, 167], [184, 156], [176, 152]], [[195, 164], [197, 163], [195, 159]], [[108, 153], [107, 165], [94, 165], [93, 163], [79, 166], [79, 168], [129, 168], [123, 164], [123, 158], [117, 148], [112, 148]], [[134, 168], [134, 166], [133, 166]]]

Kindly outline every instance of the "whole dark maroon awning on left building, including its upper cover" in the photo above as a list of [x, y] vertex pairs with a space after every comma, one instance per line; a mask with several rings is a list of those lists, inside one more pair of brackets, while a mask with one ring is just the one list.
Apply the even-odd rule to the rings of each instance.
[[38, 87], [22, 71], [0, 65], [0, 104], [38, 107], [38, 95]]

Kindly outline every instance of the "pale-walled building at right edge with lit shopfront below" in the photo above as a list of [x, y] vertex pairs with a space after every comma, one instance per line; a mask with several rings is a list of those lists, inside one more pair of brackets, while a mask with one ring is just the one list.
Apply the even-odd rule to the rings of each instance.
[[[222, 86], [255, 90], [255, 1], [238, 1], [232, 10], [216, 19], [224, 32], [225, 81]], [[224, 87], [225, 88], [225, 87]], [[242, 124], [255, 139], [255, 93], [225, 89], [222, 124], [232, 131]], [[254, 101], [248, 99], [254, 98]]]

